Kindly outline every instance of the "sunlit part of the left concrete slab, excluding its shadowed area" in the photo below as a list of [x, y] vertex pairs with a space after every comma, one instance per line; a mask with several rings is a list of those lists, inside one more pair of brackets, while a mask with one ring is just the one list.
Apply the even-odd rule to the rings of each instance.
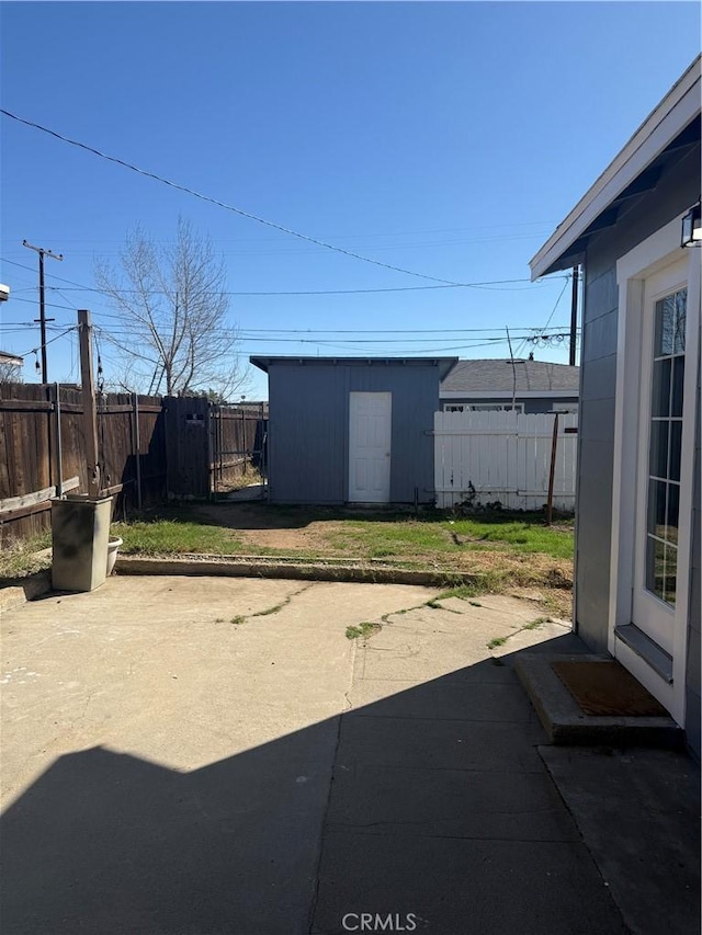
[[190, 769], [336, 715], [348, 704], [354, 652], [346, 626], [432, 594], [387, 584], [111, 578], [90, 594], [7, 612], [3, 796], [53, 757], [97, 743]]

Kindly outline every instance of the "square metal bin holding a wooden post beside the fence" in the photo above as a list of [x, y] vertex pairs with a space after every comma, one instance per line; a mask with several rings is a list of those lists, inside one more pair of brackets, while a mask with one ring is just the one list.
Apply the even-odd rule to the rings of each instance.
[[104, 582], [112, 497], [73, 493], [52, 500], [52, 584], [94, 591]]

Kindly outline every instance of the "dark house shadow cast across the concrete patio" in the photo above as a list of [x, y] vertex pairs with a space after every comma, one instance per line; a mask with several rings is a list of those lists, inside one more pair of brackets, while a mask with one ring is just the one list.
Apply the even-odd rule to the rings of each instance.
[[[580, 646], [568, 635], [529, 651]], [[349, 913], [396, 916], [395, 928], [365, 931], [399, 922], [430, 935], [626, 932], [539, 755], [518, 655], [191, 773], [100, 746], [59, 757], [2, 818], [2, 932], [361, 931]], [[667, 808], [669, 835], [691, 835], [694, 853], [688, 811]], [[634, 840], [624, 846], [637, 853]], [[672, 917], [688, 913], [671, 923], [678, 935], [699, 920], [689, 851], [669, 868]]]

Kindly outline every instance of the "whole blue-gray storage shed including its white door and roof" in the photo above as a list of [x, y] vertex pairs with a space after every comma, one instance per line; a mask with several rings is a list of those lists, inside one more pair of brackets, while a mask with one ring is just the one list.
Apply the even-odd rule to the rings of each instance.
[[251, 357], [269, 379], [274, 503], [429, 503], [456, 357]]

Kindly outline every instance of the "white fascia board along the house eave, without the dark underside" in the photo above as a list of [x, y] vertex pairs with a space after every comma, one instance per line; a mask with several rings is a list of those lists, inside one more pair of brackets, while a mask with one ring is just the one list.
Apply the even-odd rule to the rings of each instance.
[[566, 253], [590, 224], [700, 113], [701, 60], [702, 56], [698, 56], [530, 261], [532, 282], [550, 271], [552, 264]]

